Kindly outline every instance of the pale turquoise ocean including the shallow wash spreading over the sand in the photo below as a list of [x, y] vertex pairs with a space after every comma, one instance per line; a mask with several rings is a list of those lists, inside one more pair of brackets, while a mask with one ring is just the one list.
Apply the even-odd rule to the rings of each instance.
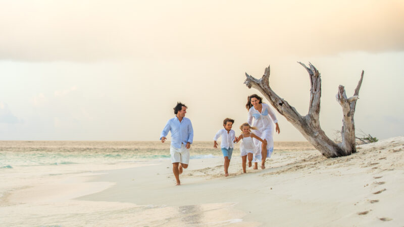
[[[159, 141], [0, 141], [0, 226], [222, 226], [241, 221], [237, 219], [240, 215], [235, 215], [234, 204], [195, 204], [185, 209], [70, 200], [77, 196], [76, 187], [94, 193], [112, 186], [108, 182], [78, 181], [77, 177], [169, 163], [169, 149], [169, 142]], [[313, 148], [304, 142], [275, 143], [275, 152], [308, 149]], [[191, 159], [222, 156], [212, 141], [194, 142], [190, 152]], [[41, 188], [44, 185], [48, 188]], [[64, 200], [25, 196], [37, 193], [35, 190], [60, 191], [63, 196], [59, 197]], [[201, 218], [208, 216], [212, 218]]]

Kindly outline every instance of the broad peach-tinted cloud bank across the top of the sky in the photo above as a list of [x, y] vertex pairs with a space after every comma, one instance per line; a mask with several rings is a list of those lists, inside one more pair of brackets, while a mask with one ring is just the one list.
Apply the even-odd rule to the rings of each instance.
[[2, 3], [0, 59], [101, 61], [404, 50], [399, 0]]

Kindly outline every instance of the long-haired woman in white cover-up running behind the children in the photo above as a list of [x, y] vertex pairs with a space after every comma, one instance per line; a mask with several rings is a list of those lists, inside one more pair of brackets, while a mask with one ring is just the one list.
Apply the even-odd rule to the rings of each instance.
[[[261, 168], [265, 168], [265, 160], [267, 157], [271, 157], [274, 150], [273, 128], [274, 123], [276, 125], [276, 132], [279, 134], [278, 120], [276, 119], [275, 112], [269, 107], [268, 104], [262, 103], [262, 98], [256, 94], [252, 94], [247, 98], [247, 104], [245, 107], [248, 109], [247, 123], [250, 126], [257, 127], [258, 130], [254, 130], [254, 133], [267, 140], [267, 146], [258, 140], [254, 140], [257, 152], [255, 152], [254, 169], [258, 169], [257, 162], [261, 156]], [[252, 122], [254, 120], [254, 123]], [[261, 149], [261, 152], [259, 152]], [[261, 154], [261, 155], [260, 155]]]

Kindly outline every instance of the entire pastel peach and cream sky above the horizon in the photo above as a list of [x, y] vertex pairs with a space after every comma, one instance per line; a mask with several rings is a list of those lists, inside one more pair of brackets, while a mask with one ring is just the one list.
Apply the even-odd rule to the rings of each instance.
[[[244, 84], [271, 66], [270, 86], [301, 115], [322, 76], [320, 124], [342, 127], [338, 85], [355, 122], [404, 135], [404, 1], [0, 0], [0, 140], [158, 140], [177, 101], [195, 141], [226, 117], [246, 121]], [[258, 93], [259, 94], [259, 93]], [[264, 100], [265, 101], [265, 100]], [[304, 137], [277, 113], [275, 141]]]

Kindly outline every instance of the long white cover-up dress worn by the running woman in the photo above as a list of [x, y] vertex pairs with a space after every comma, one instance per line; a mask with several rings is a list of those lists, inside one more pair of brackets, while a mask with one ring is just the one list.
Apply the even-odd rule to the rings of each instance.
[[[271, 157], [272, 151], [274, 150], [274, 124], [278, 122], [276, 119], [275, 112], [266, 103], [262, 104], [262, 110], [259, 112], [254, 106], [248, 110], [247, 123], [250, 126], [257, 127], [258, 130], [252, 131], [261, 139], [267, 140], [267, 157]], [[254, 122], [253, 122], [254, 121]], [[261, 161], [261, 144], [262, 142], [254, 139], [254, 145], [256, 150], [254, 152], [254, 162]]]

